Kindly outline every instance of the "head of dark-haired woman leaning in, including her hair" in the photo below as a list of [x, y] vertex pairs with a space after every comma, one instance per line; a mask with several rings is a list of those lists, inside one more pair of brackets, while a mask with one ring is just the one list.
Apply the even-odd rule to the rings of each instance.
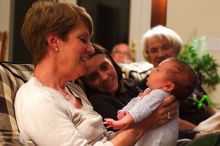
[[122, 78], [121, 68], [112, 59], [108, 50], [93, 44], [95, 53], [85, 62], [86, 74], [83, 82], [87, 88], [100, 92], [115, 93]]

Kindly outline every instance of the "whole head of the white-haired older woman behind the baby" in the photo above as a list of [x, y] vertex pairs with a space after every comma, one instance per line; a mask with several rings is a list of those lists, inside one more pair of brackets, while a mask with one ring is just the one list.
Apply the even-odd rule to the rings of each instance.
[[177, 57], [181, 48], [181, 37], [172, 29], [162, 25], [151, 28], [142, 38], [144, 58], [154, 67], [167, 58]]

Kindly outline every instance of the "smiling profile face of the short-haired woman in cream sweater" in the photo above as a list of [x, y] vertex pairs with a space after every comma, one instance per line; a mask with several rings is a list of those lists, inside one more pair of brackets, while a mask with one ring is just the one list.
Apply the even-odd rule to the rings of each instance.
[[69, 33], [66, 41], [59, 40], [57, 65], [63, 78], [75, 80], [85, 74], [85, 60], [94, 53], [90, 33], [84, 23]]

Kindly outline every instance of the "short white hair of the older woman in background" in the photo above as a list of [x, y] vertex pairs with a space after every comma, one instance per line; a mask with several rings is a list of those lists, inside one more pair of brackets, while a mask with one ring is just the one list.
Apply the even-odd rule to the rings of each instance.
[[165, 40], [168, 45], [175, 49], [177, 51], [177, 54], [179, 54], [181, 48], [182, 48], [182, 39], [181, 37], [172, 29], [157, 25], [151, 29], [149, 29], [147, 32], [145, 32], [142, 36], [142, 43], [141, 48], [143, 52], [143, 56], [146, 60], [149, 60], [148, 58], [148, 40], [151, 38], [158, 38], [161, 40]]

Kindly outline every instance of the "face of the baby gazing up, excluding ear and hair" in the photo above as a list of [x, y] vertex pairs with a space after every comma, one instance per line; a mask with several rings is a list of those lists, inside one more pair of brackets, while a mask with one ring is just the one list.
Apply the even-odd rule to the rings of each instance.
[[153, 90], [162, 88], [169, 79], [169, 70], [173, 68], [172, 61], [169, 59], [162, 61], [158, 67], [152, 68], [147, 78], [147, 86]]

